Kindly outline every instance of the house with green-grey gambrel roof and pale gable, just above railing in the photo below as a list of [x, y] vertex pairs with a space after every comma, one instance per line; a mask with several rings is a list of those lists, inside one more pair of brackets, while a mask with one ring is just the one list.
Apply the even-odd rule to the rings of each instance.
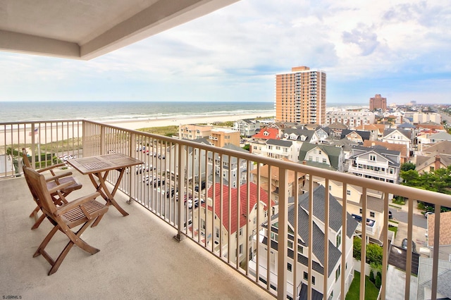
[[324, 144], [302, 144], [299, 150], [299, 162], [302, 161], [307, 161], [307, 164], [308, 162], [315, 162], [327, 165], [333, 170], [338, 170], [338, 172], [342, 172], [345, 168], [342, 148]]

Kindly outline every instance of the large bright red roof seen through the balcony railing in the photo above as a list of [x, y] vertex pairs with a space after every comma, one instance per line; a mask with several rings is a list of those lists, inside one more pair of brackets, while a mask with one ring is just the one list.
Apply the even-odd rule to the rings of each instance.
[[[216, 183], [214, 185], [215, 188], [215, 194], [213, 197], [213, 187], [210, 187], [208, 196], [211, 199], [214, 199], [214, 208], [215, 208], [215, 214], [218, 216], [218, 218], [221, 218], [221, 184]], [[229, 226], [228, 224], [228, 199], [229, 199], [229, 187], [227, 185], [223, 185], [222, 194], [223, 194], [223, 218], [222, 223], [223, 226], [226, 227], [226, 230], [230, 232], [230, 234], [233, 234], [237, 231], [238, 224], [237, 224], [237, 214], [238, 209], [240, 209], [240, 228], [245, 226], [247, 224], [247, 185], [242, 185], [240, 187], [240, 203], [238, 204], [238, 189], [232, 188], [230, 190], [230, 200], [231, 200], [231, 223], [232, 225]], [[254, 183], [249, 183], [249, 210], [254, 207], [254, 205], [257, 203], [257, 185]], [[260, 201], [264, 203], [265, 209], [268, 205], [268, 194], [264, 189], [260, 187]], [[271, 201], [271, 205], [274, 205], [274, 202]], [[208, 207], [209, 210], [212, 210], [212, 207]]]

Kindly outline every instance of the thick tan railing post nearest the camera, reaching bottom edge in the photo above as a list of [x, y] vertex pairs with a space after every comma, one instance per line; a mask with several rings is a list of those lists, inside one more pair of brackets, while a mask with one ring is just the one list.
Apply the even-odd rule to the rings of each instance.
[[[277, 253], [277, 299], [287, 299], [288, 263], [288, 170], [279, 168], [279, 218]], [[271, 199], [270, 199], [271, 201]], [[271, 226], [268, 226], [271, 228]], [[271, 244], [269, 242], [268, 244]], [[297, 249], [295, 249], [297, 253]], [[295, 284], [295, 283], [293, 283]]]

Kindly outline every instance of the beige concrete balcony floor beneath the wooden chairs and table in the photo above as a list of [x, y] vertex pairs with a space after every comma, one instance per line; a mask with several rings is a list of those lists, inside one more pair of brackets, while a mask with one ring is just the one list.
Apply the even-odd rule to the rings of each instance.
[[[87, 176], [73, 173], [83, 187], [70, 199], [94, 192]], [[0, 180], [0, 194], [3, 299], [273, 299], [190, 239], [177, 242], [173, 227], [140, 204], [126, 204], [121, 192], [116, 200], [130, 215], [123, 217], [111, 206], [99, 225], [82, 235], [101, 251], [91, 256], [75, 246], [48, 276], [49, 263], [32, 255], [51, 224], [44, 220], [30, 230], [35, 203], [24, 177]], [[56, 258], [67, 242], [57, 232], [46, 250]]]

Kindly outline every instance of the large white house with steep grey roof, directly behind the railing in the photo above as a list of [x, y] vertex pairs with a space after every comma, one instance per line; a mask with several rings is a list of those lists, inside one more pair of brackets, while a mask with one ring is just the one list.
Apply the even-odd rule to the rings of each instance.
[[[307, 299], [306, 289], [311, 280], [312, 299], [340, 299], [342, 294], [347, 294], [354, 277], [352, 263], [352, 238], [357, 228], [357, 221], [347, 214], [347, 230], [342, 232], [342, 206], [334, 196], [329, 195], [329, 230], [328, 230], [328, 261], [324, 261], [324, 206], [326, 189], [323, 186], [316, 187], [313, 191], [313, 244], [309, 244], [309, 193], [298, 196], [297, 204], [291, 198], [288, 206], [288, 299]], [[297, 220], [295, 219], [297, 215]], [[249, 261], [249, 272], [256, 275], [258, 264], [258, 278], [264, 284], [267, 282], [268, 268], [271, 273], [270, 287], [277, 289], [278, 271], [278, 215], [273, 215], [271, 224], [264, 223], [264, 229], [259, 232], [259, 260], [252, 258]], [[297, 228], [297, 232], [295, 229]], [[270, 230], [270, 241], [268, 241], [268, 230]], [[257, 239], [257, 237], [255, 237]], [[345, 240], [346, 249], [342, 253], [342, 241]], [[271, 245], [270, 247], [268, 247]], [[312, 247], [312, 265], [309, 274], [308, 258], [309, 247]], [[269, 261], [266, 260], [268, 248]], [[294, 268], [294, 256], [297, 255], [297, 265]], [[342, 256], [345, 256], [345, 265], [342, 265]], [[328, 273], [324, 274], [324, 265], [328, 265]], [[293, 272], [296, 270], [297, 282], [293, 282]], [[345, 276], [345, 290], [341, 290], [341, 276]], [[328, 290], [323, 291], [323, 280], [328, 282]], [[293, 295], [293, 285], [299, 287], [297, 295]]]

